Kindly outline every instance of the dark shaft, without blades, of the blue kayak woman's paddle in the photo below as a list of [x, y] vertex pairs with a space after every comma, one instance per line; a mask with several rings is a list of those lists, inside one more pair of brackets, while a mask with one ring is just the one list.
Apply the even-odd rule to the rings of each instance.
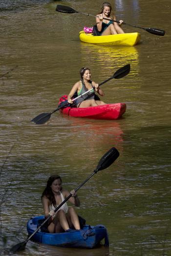
[[[91, 173], [91, 175], [89, 177], [87, 177], [85, 179], [85, 181], [80, 185], [78, 186], [76, 189], [75, 189], [75, 192], [77, 192], [84, 184], [85, 182], [87, 182], [97, 171], [93, 171], [93, 173]], [[62, 203], [60, 203], [60, 205], [58, 205], [58, 207], [56, 207], [56, 209], [54, 210], [54, 212], [57, 212], [61, 206], [63, 206], [63, 204], [72, 197], [72, 194], [70, 193], [69, 196], [67, 196], [64, 201], [62, 201]], [[51, 215], [49, 215], [44, 221], [43, 223], [25, 240], [25, 244], [28, 242], [28, 240], [30, 240], [32, 238], [32, 236], [37, 233], [39, 231], [40, 228], [42, 228], [42, 226], [51, 218]]]

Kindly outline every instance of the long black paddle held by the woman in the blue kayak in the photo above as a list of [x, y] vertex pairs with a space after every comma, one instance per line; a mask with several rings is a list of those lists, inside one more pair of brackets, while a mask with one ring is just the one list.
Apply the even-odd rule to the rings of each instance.
[[[93, 171], [93, 173], [91, 173], [91, 175], [89, 177], [87, 177], [85, 179], [85, 181], [78, 186], [75, 189], [75, 192], [77, 192], [84, 184], [85, 182], [87, 182], [94, 174], [96, 174], [98, 171], [102, 171], [104, 169], [107, 169], [107, 167], [109, 167], [119, 156], [119, 152], [115, 147], [110, 148], [110, 150], [107, 151], [107, 153], [100, 159], [96, 169]], [[61, 206], [70, 198], [72, 197], [72, 194], [69, 194], [69, 196], [67, 196], [64, 201], [62, 203], [60, 203], [60, 205], [54, 210], [54, 212], [57, 212], [59, 210], [59, 208], [61, 208]], [[31, 237], [39, 231], [39, 229], [44, 225], [44, 223], [46, 223], [49, 219], [51, 218], [51, 215], [49, 215], [44, 222], [23, 242], [18, 243], [16, 245], [14, 245], [11, 249], [10, 249], [10, 253], [11, 254], [15, 254], [17, 252], [23, 251], [25, 249], [26, 243], [31, 239]]]

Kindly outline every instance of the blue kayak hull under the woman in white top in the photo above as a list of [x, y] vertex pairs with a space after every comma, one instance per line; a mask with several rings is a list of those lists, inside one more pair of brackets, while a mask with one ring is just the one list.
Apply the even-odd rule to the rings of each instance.
[[[36, 216], [27, 222], [28, 235], [31, 235], [37, 229], [39, 220], [43, 219], [44, 216]], [[108, 246], [107, 229], [105, 226], [97, 225], [94, 227], [85, 225], [83, 229], [70, 229], [69, 232], [63, 233], [45, 233], [39, 230], [33, 235], [32, 240], [60, 247], [94, 248], [104, 238], [105, 246]]]

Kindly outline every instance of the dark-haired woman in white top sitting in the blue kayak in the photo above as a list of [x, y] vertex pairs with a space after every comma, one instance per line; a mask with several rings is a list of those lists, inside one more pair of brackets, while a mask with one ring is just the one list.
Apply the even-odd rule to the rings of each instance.
[[80, 229], [78, 215], [73, 207], [68, 207], [65, 202], [61, 208], [55, 212], [65, 198], [71, 194], [68, 199], [75, 206], [80, 206], [80, 200], [75, 190], [70, 193], [62, 187], [62, 179], [59, 175], [52, 175], [47, 180], [47, 185], [42, 194], [44, 216], [51, 218], [46, 222], [47, 232], [58, 233], [67, 231], [69, 228]]

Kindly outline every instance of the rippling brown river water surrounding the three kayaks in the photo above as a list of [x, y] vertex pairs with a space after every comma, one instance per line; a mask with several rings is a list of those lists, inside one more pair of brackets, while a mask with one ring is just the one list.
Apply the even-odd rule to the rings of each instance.
[[[171, 3], [112, 2], [117, 19], [166, 30], [160, 37], [125, 26], [126, 32], [141, 33], [134, 47], [80, 42], [79, 31], [94, 25], [94, 18], [55, 11], [64, 4], [95, 15], [101, 3], [0, 2], [1, 251], [24, 240], [28, 219], [43, 214], [40, 197], [49, 175], [58, 173], [64, 187], [76, 188], [115, 146], [120, 152], [116, 162], [78, 192], [79, 214], [88, 224], [107, 227], [109, 249], [65, 249], [29, 241], [19, 255], [171, 255]], [[81, 67], [90, 67], [93, 80], [101, 83], [128, 63], [131, 71], [125, 78], [103, 85], [105, 102], [127, 104], [123, 118], [77, 119], [56, 112], [47, 125], [30, 122], [56, 108], [79, 80]]]

